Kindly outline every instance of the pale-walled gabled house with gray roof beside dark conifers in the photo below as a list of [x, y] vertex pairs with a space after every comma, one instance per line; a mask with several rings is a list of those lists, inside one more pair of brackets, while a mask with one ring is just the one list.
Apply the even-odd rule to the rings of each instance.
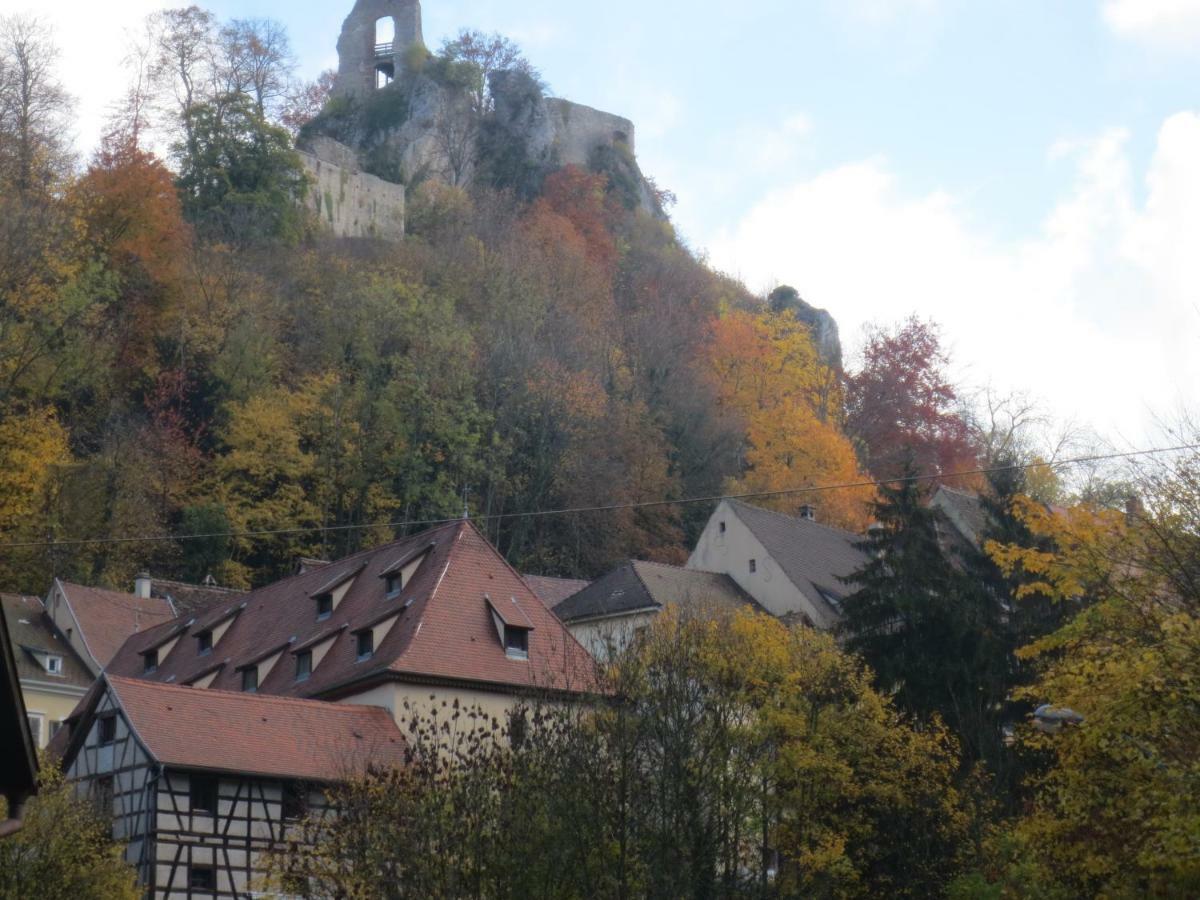
[[844, 581], [866, 556], [863, 539], [821, 524], [809, 506], [800, 516], [721, 500], [704, 526], [689, 569], [724, 572], [772, 616], [832, 630], [853, 588]]

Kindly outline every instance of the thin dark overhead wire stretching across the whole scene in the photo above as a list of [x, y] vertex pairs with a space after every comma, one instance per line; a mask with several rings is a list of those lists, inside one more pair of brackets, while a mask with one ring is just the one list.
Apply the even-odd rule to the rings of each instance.
[[[641, 500], [635, 503], [613, 503], [601, 506], [572, 506], [568, 509], [532, 510], [528, 512], [496, 512], [486, 516], [472, 516], [476, 522], [499, 522], [514, 518], [548, 518], [551, 516], [574, 516], [588, 512], [623, 512], [626, 510], [658, 509], [662, 506], [689, 506], [700, 503], [720, 503], [721, 500], [749, 500], [772, 497], [794, 497], [798, 494], [821, 494], [833, 491], [848, 491], [863, 487], [881, 487], [883, 485], [899, 485], [905, 482], [920, 481], [947, 481], [955, 478], [968, 478], [971, 475], [994, 475], [1003, 472], [1028, 472], [1031, 469], [1055, 469], [1067, 466], [1081, 466], [1090, 462], [1110, 462], [1114, 460], [1133, 460], [1142, 456], [1157, 456], [1160, 454], [1183, 452], [1186, 450], [1200, 450], [1200, 444], [1181, 444], [1180, 446], [1162, 446], [1150, 450], [1130, 450], [1120, 454], [1098, 454], [1093, 456], [1076, 456], [1069, 460], [1056, 460], [1051, 462], [1030, 462], [1016, 466], [995, 466], [989, 468], [967, 469], [964, 472], [950, 472], [936, 475], [908, 475], [905, 478], [892, 478], [880, 480], [850, 481], [835, 485], [816, 485], [809, 487], [790, 487], [781, 491], [751, 491], [749, 493], [715, 494], [712, 497], [686, 497], [676, 500]], [[280, 538], [290, 534], [330, 534], [337, 532], [366, 532], [373, 528], [415, 528], [433, 527], [461, 522], [462, 518], [425, 518], [403, 522], [376, 522], [366, 524], [342, 524], [342, 526], [312, 526], [311, 528], [272, 528], [247, 532], [212, 532], [209, 534], [156, 534], [142, 538], [72, 538], [58, 541], [16, 541], [0, 544], [0, 551], [29, 550], [34, 547], [79, 547], [101, 546], [114, 544], [166, 544], [175, 541], [214, 540], [216, 538]]]

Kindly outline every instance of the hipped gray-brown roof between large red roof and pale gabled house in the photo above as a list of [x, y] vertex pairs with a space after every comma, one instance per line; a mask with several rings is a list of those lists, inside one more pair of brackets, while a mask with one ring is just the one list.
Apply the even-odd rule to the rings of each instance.
[[581, 622], [700, 602], [762, 610], [728, 575], [631, 559], [560, 602], [554, 614], [563, 622]]

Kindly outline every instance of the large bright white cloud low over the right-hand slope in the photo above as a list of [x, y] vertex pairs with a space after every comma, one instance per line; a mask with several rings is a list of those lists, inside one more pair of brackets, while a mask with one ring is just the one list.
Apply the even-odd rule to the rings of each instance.
[[1153, 413], [1200, 402], [1200, 115], [1163, 125], [1140, 206], [1126, 140], [1058, 145], [1070, 190], [1021, 241], [990, 239], [948, 193], [907, 196], [871, 158], [764, 197], [713, 262], [793, 284], [848, 342], [868, 322], [934, 318], [970, 380], [1140, 439]]

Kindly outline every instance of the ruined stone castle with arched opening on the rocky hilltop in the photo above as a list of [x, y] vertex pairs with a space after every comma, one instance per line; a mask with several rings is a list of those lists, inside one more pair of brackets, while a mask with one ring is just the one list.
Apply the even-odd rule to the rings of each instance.
[[[314, 184], [310, 204], [340, 236], [397, 240], [406, 187], [426, 179], [469, 186], [475, 179], [478, 113], [461, 91], [422, 73], [420, 0], [356, 0], [337, 55], [330, 104], [298, 142]], [[530, 97], [515, 74], [493, 73], [490, 125], [510, 137], [530, 169], [616, 160], [631, 204], [655, 211], [634, 157], [631, 121], [540, 90]]]

